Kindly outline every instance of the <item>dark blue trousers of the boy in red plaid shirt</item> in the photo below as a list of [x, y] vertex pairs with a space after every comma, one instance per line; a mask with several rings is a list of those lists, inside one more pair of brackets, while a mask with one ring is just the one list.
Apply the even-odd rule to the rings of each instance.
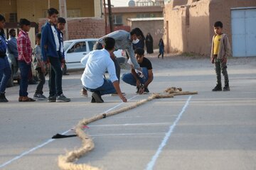
[[31, 70], [31, 64], [26, 64], [24, 61], [18, 61], [18, 67], [21, 71], [19, 96], [28, 96], [28, 74]]

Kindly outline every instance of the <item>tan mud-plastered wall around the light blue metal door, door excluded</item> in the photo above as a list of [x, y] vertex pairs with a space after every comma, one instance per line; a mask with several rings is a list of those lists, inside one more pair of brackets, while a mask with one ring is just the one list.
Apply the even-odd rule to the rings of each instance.
[[222, 21], [231, 39], [230, 8], [256, 6], [247, 0], [173, 0], [164, 8], [164, 42], [167, 52], [209, 55], [213, 24]]

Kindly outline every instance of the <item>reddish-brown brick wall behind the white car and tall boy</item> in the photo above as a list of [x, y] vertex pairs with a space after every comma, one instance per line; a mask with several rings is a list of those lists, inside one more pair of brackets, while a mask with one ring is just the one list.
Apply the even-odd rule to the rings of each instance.
[[[80, 38], [101, 38], [105, 35], [105, 21], [102, 18], [67, 18], [69, 40]], [[46, 19], [39, 20], [39, 32]]]

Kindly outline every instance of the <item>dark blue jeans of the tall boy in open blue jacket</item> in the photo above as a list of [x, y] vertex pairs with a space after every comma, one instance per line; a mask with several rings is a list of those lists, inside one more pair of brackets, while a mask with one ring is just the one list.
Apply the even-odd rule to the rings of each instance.
[[58, 57], [48, 57], [50, 60], [50, 74], [49, 74], [49, 94], [50, 96], [60, 96], [63, 94], [61, 62]]

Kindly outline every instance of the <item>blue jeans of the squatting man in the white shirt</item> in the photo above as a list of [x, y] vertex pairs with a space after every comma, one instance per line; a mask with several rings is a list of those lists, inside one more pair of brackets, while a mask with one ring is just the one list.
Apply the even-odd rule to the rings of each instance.
[[109, 79], [104, 79], [102, 86], [98, 87], [97, 89], [90, 89], [87, 87], [85, 87], [85, 89], [90, 92], [100, 91], [100, 95], [116, 93], [116, 90], [114, 89], [114, 86]]

